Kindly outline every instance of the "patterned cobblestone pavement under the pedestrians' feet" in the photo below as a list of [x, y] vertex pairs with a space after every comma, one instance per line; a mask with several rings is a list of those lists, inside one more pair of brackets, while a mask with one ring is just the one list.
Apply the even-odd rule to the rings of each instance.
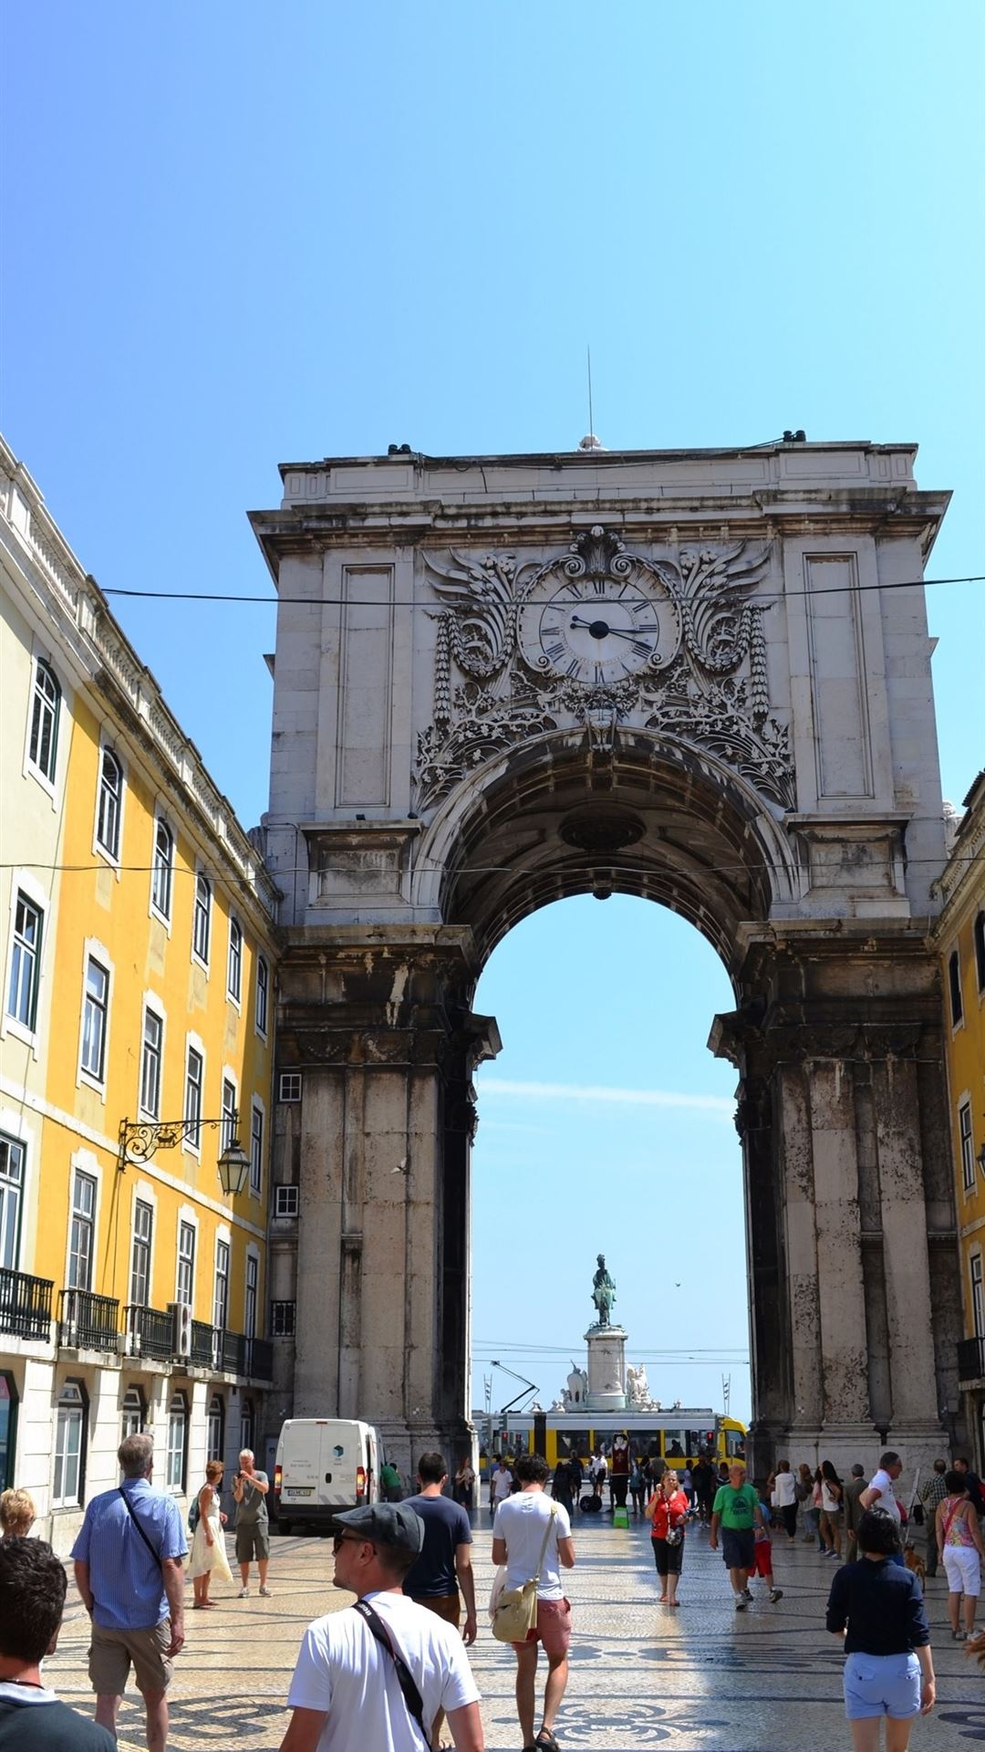
[[[491, 1524], [473, 1517], [477, 1594], [489, 1598]], [[582, 1519], [578, 1563], [570, 1577], [575, 1612], [571, 1680], [557, 1720], [561, 1745], [575, 1748], [659, 1747], [664, 1752], [840, 1752], [850, 1747], [841, 1712], [841, 1652], [824, 1629], [834, 1563], [804, 1542], [775, 1542], [771, 1607], [762, 1584], [736, 1614], [720, 1554], [708, 1535], [687, 1535], [680, 1610], [657, 1605], [657, 1580], [645, 1526], [613, 1529]], [[331, 1545], [282, 1538], [272, 1547], [272, 1600], [216, 1591], [212, 1612], [188, 1610], [188, 1643], [172, 1685], [170, 1752], [277, 1752], [287, 1713], [284, 1698], [301, 1633], [312, 1617], [344, 1608], [351, 1596], [330, 1582]], [[191, 1587], [188, 1589], [191, 1596]], [[960, 1752], [985, 1743], [985, 1677], [952, 1643], [945, 1584], [927, 1584], [939, 1703], [913, 1729], [911, 1752]], [[191, 1600], [189, 1600], [191, 1607]], [[46, 1671], [67, 1703], [91, 1710], [86, 1629], [74, 1587], [58, 1654]], [[519, 1747], [514, 1656], [496, 1643], [480, 1607], [473, 1666], [482, 1689], [489, 1752]], [[121, 1710], [121, 1752], [144, 1747], [135, 1692]], [[366, 1747], [365, 1752], [377, 1752]]]

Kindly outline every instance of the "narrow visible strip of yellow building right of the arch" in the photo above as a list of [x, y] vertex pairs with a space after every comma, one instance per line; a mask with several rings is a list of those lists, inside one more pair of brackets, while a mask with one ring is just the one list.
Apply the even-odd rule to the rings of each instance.
[[980, 1468], [985, 1463], [985, 773], [964, 799], [938, 888], [964, 1310], [957, 1372], [964, 1426]]

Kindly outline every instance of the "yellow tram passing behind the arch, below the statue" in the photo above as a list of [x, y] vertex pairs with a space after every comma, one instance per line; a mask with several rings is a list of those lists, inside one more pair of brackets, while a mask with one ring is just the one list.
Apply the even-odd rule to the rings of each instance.
[[[487, 1437], [487, 1414], [477, 1414], [475, 1421]], [[747, 1426], [738, 1417], [677, 1405], [659, 1412], [500, 1412], [498, 1419], [492, 1414], [491, 1452], [494, 1459], [538, 1452], [554, 1468], [571, 1456], [587, 1461], [598, 1452], [610, 1454], [615, 1435], [629, 1437], [633, 1459], [664, 1459], [670, 1465], [691, 1465], [699, 1456], [715, 1465], [745, 1459]], [[489, 1440], [482, 1444], [482, 1459], [487, 1461], [487, 1456]]]

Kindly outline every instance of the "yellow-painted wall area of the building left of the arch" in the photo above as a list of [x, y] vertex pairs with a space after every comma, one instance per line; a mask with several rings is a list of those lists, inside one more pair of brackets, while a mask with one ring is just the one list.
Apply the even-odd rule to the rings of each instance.
[[[100, 783], [105, 752], [117, 760], [119, 848], [98, 837]], [[193, 1318], [212, 1321], [216, 1239], [231, 1239], [228, 1326], [244, 1330], [247, 1247], [258, 1254], [256, 1333], [266, 1330], [265, 1226], [270, 1179], [270, 1048], [275, 948], [261, 908], [245, 883], [221, 862], [217, 848], [195, 830], [177, 785], [167, 785], [135, 738], [112, 715], [98, 717], [88, 699], [75, 699], [75, 722], [65, 794], [63, 858], [53, 965], [53, 1016], [47, 1051], [49, 1109], [72, 1116], [61, 1148], [46, 1141], [44, 1207], [51, 1221], [39, 1232], [33, 1270], [68, 1282], [72, 1230], [72, 1176], [75, 1169], [98, 1181], [96, 1247], [91, 1288], [131, 1300], [131, 1219], [137, 1181], [152, 1188], [154, 1205], [151, 1291], [147, 1303], [167, 1309], [177, 1298], [177, 1240], [181, 1212], [196, 1230]], [[170, 920], [152, 906], [152, 867], [158, 820], [174, 836]], [[103, 816], [103, 837], [112, 841], [112, 818]], [[196, 878], [210, 883], [207, 965], [193, 955]], [[240, 1000], [230, 995], [230, 925], [242, 930]], [[258, 955], [268, 969], [266, 1037], [256, 1021]], [[86, 974], [109, 974], [102, 1074], [98, 1069], [96, 986], [86, 1035]], [[263, 1128], [263, 1183], [247, 1188], [230, 1205], [217, 1177], [223, 1148], [217, 1128], [203, 1127], [198, 1151], [191, 1144], [159, 1149], [145, 1165], [119, 1174], [116, 1139], [123, 1118], [149, 1118], [142, 1102], [144, 1020], [151, 1009], [163, 1021], [158, 1120], [186, 1113], [189, 1037], [203, 1058], [202, 1116], [223, 1114], [223, 1081], [237, 1090], [240, 1142], [251, 1155], [252, 1106]], [[95, 1027], [93, 1027], [95, 1021]], [[86, 1065], [86, 1056], [89, 1063]], [[107, 1148], [109, 1146], [109, 1148]]]

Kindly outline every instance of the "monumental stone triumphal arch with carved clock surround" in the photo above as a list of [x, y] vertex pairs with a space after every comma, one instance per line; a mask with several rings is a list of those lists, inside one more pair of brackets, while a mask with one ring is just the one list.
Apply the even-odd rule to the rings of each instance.
[[535, 908], [629, 892], [734, 986], [710, 1046], [738, 1072], [757, 1465], [939, 1449], [959, 1286], [920, 580], [946, 494], [913, 456], [401, 449], [284, 466], [252, 515], [280, 596], [265, 827], [301, 1099], [272, 1295], [296, 1300], [298, 1416], [370, 1416], [403, 1461], [464, 1442], [471, 1076], [498, 1049], [475, 981]]

